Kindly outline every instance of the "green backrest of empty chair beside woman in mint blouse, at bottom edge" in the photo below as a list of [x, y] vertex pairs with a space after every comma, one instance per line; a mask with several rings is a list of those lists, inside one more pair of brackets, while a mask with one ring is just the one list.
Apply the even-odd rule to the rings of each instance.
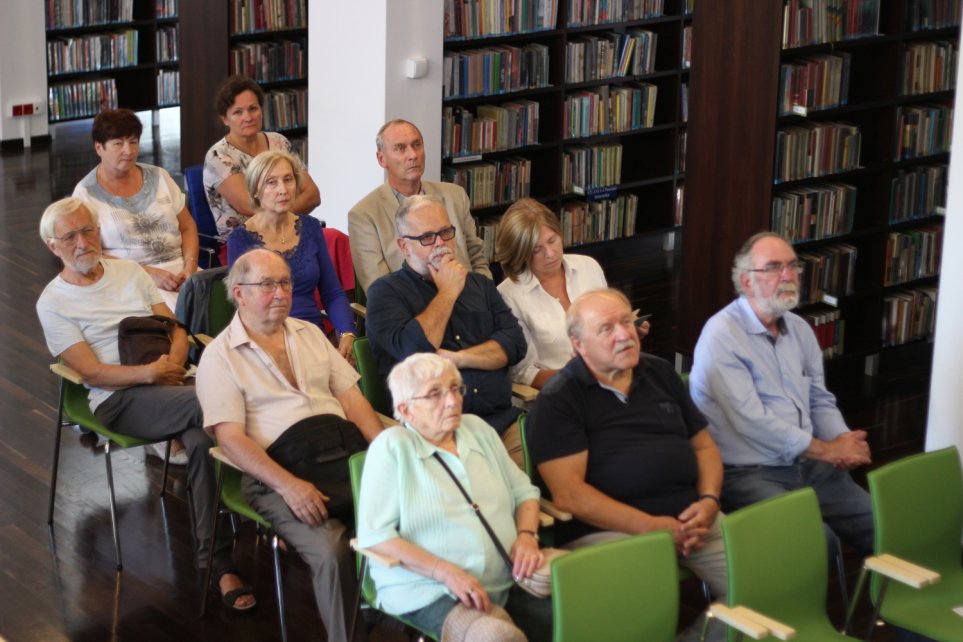
[[581, 548], [552, 562], [555, 642], [669, 642], [679, 619], [675, 546], [666, 531]]

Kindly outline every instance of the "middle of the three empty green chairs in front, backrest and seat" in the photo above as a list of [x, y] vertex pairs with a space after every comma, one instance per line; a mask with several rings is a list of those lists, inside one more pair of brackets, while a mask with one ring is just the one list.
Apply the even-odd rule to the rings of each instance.
[[[752, 504], [722, 520], [729, 605], [796, 630], [800, 642], [850, 640], [826, 615], [826, 537], [812, 488]], [[741, 637], [729, 630], [729, 640]]]

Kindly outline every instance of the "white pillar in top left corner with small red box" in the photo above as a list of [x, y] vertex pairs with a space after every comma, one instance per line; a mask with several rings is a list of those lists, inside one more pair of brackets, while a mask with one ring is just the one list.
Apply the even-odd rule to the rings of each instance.
[[[3, 0], [0, 19], [0, 140], [43, 136], [47, 128], [47, 46], [43, 2]], [[11, 105], [37, 101], [43, 111], [13, 118]], [[24, 127], [29, 125], [29, 127]]]

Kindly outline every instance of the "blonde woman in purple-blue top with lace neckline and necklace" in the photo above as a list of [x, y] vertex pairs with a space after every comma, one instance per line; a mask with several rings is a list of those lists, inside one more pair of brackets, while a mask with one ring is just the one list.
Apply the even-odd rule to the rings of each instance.
[[244, 182], [251, 194], [254, 215], [227, 237], [230, 265], [250, 249], [263, 247], [281, 255], [291, 268], [293, 288], [291, 316], [323, 328], [324, 315], [315, 300], [321, 296], [332, 325], [339, 334], [338, 352], [354, 363], [351, 345], [355, 337], [354, 317], [338, 275], [331, 263], [321, 223], [313, 216], [299, 216], [292, 210], [301, 189], [302, 173], [287, 152], [266, 151], [254, 157], [244, 170]]

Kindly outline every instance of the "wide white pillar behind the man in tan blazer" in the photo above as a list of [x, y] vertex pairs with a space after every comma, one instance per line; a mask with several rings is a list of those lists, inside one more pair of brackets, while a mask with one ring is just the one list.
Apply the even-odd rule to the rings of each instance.
[[[374, 139], [385, 121], [418, 125], [429, 150], [425, 177], [439, 175], [441, 159], [431, 152], [441, 149], [443, 5], [353, 0], [312, 3], [311, 12], [308, 170], [321, 190], [314, 214], [347, 232], [348, 210], [384, 182]], [[410, 56], [429, 59], [427, 77], [404, 77]]]

